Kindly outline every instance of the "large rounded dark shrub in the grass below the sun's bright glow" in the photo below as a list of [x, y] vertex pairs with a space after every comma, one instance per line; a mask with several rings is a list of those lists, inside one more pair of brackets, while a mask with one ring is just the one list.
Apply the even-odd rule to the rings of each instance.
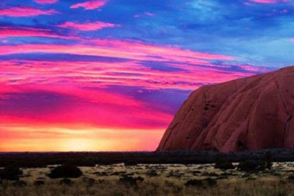
[[57, 166], [48, 174], [49, 178], [78, 178], [83, 172], [76, 166]]

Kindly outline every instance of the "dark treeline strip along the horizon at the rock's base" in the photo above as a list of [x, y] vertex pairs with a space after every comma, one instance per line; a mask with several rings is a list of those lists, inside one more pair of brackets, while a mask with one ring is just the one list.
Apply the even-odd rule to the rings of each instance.
[[220, 153], [216, 151], [154, 151], [154, 152], [14, 152], [0, 153], [0, 167], [40, 168], [48, 165], [76, 166], [136, 164], [206, 164], [218, 161], [242, 162], [264, 160], [270, 152], [271, 161], [294, 161], [294, 149], [266, 149]]

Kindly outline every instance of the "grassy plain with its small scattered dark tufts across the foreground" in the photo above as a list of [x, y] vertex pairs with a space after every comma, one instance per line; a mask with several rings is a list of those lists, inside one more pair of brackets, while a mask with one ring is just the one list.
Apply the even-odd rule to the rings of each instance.
[[[223, 165], [75, 167], [66, 164], [9, 169], [17, 171], [13, 173], [17, 173], [19, 179], [2, 178], [0, 196], [293, 196], [294, 163], [270, 164], [270, 170], [265, 161], [261, 164], [252, 160]], [[8, 168], [2, 170], [8, 171]], [[156, 175], [150, 175], [155, 172]]]

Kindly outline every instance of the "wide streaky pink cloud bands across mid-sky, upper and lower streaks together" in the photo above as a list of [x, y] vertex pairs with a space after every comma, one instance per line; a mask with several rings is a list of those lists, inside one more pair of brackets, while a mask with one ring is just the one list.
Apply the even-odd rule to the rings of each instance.
[[[94, 55], [112, 58], [123, 58], [123, 62], [67, 62], [67, 61], [0, 61], [0, 73], [17, 73], [15, 76], [0, 75], [2, 81], [13, 81], [14, 85], [38, 83], [42, 85], [54, 84], [62, 81], [75, 86], [88, 86], [93, 88], [107, 88], [111, 86], [144, 87], [146, 89], [182, 89], [194, 90], [202, 84], [224, 82], [239, 77], [252, 75], [267, 70], [256, 69], [250, 65], [238, 67], [248, 72], [223, 72], [221, 68], [230, 69], [230, 65], [210, 64], [210, 60], [235, 60], [234, 57], [211, 54], [205, 52], [181, 49], [172, 46], [155, 46], [139, 42], [119, 40], [92, 40], [96, 45], [15, 45], [0, 46], [0, 54], [15, 53], [65, 53], [78, 55]], [[136, 51], [136, 52], [134, 52]], [[153, 70], [141, 62], [162, 63], [176, 72]], [[19, 69], [22, 65], [22, 69]], [[59, 69], [55, 69], [58, 67]], [[40, 74], [42, 73], [42, 74]], [[46, 76], [45, 76], [46, 75]], [[14, 78], [15, 77], [15, 78]], [[44, 79], [46, 78], [46, 79]], [[61, 88], [61, 87], [60, 87]], [[68, 88], [68, 87], [66, 87]], [[65, 90], [63, 90], [65, 91]], [[78, 95], [89, 95], [87, 92], [78, 92]], [[101, 94], [99, 92], [98, 94]], [[99, 97], [93, 95], [92, 99]], [[103, 96], [107, 100], [116, 99]], [[123, 99], [122, 99], [123, 100]], [[127, 100], [123, 102], [128, 103]]]

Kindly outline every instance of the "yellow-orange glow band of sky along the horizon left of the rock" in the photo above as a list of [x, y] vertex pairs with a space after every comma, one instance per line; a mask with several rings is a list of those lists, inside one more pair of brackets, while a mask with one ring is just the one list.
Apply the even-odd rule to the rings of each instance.
[[147, 151], [157, 147], [162, 134], [163, 130], [2, 125], [0, 151]]

